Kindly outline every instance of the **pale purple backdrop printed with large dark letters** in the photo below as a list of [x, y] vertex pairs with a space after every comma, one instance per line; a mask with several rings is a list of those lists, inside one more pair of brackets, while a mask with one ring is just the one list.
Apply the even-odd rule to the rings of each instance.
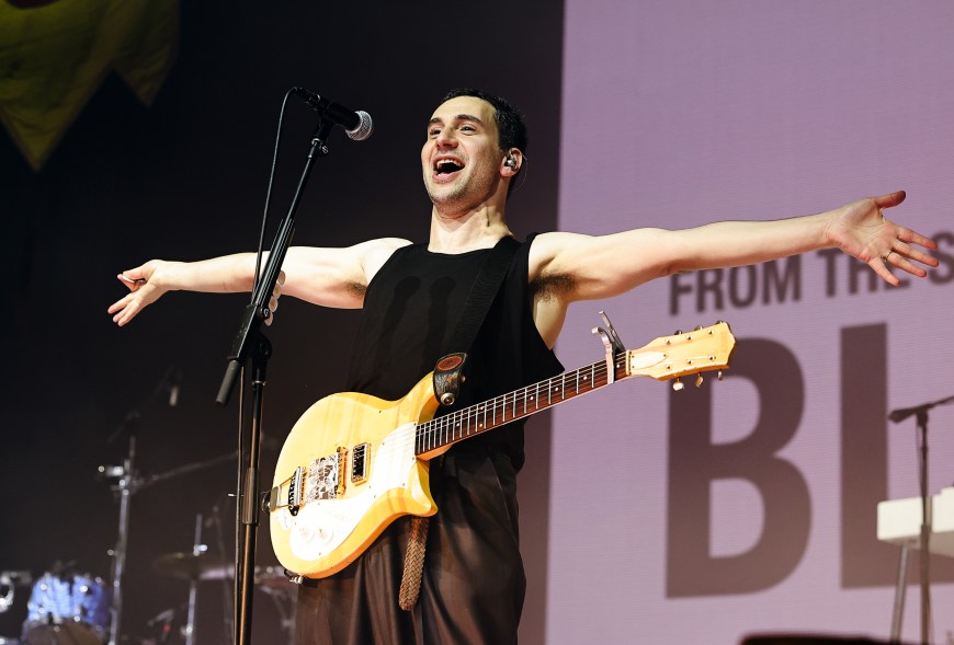
[[[936, 235], [942, 265], [891, 289], [824, 252], [577, 306], [568, 367], [601, 355], [589, 330], [603, 308], [631, 347], [716, 319], [740, 343], [722, 383], [622, 383], [554, 414], [548, 642], [886, 637], [898, 550], [876, 541], [875, 505], [917, 495], [918, 480], [913, 421], [885, 417], [954, 394], [954, 5], [570, 0], [566, 12], [561, 230], [769, 219], [904, 188], [889, 216]], [[954, 410], [931, 428], [938, 493], [954, 481]], [[938, 642], [954, 631], [945, 560]], [[912, 587], [909, 638], [918, 602]]]

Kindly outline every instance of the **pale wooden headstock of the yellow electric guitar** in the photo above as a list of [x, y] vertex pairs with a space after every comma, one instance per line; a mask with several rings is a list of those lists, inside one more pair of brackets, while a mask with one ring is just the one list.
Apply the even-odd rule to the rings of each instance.
[[[627, 350], [625, 369], [627, 376], [652, 377], [658, 381], [722, 370], [729, 366], [735, 346], [729, 324], [718, 322], [686, 333], [660, 336], [639, 349]], [[677, 381], [673, 388], [681, 390], [681, 381]]]

